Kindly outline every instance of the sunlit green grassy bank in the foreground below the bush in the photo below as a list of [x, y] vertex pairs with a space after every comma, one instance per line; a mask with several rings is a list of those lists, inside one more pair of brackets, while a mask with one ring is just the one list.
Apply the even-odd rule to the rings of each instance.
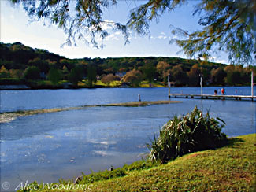
[[[86, 191], [255, 191], [256, 134], [228, 139], [217, 150], [189, 153], [168, 164], [136, 161], [113, 171], [84, 175]], [[110, 179], [113, 178], [113, 179]], [[73, 181], [55, 183], [67, 185]], [[35, 183], [34, 183], [35, 184]], [[42, 188], [42, 185], [40, 186]], [[49, 190], [43, 191], [84, 191]]]

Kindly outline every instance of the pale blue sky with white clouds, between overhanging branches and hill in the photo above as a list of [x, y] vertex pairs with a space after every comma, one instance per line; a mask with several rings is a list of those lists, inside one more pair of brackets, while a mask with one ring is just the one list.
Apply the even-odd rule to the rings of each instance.
[[[126, 23], [129, 10], [138, 6], [143, 1], [117, 1], [117, 6], [107, 9], [104, 12], [105, 20], [121, 21]], [[95, 49], [83, 41], [76, 41], [77, 46], [61, 46], [66, 35], [54, 25], [44, 24], [43, 21], [29, 22], [27, 14], [22, 6], [13, 6], [9, 0], [0, 0], [1, 6], [1, 31], [0, 41], [4, 43], [21, 42], [25, 46], [48, 50], [67, 58], [83, 57], [184, 57], [178, 54], [180, 48], [175, 44], [169, 44], [172, 35], [170, 24], [176, 28], [187, 31], [195, 31], [201, 26], [198, 25], [198, 16], [192, 16], [195, 3], [189, 1], [186, 6], [176, 9], [175, 12], [168, 12], [161, 16], [158, 22], [150, 24], [150, 36], [132, 35], [130, 43], [125, 45], [124, 37], [120, 32], [111, 33], [104, 39], [104, 47]], [[99, 41], [99, 44], [102, 40]], [[228, 63], [227, 54], [220, 53], [213, 55], [212, 61]]]

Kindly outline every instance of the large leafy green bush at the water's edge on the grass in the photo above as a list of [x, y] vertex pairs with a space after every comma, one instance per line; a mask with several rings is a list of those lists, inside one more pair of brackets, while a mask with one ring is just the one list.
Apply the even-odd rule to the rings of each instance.
[[166, 162], [186, 153], [224, 146], [228, 141], [221, 133], [224, 124], [220, 118], [210, 118], [209, 112], [203, 116], [197, 107], [186, 116], [175, 116], [161, 128], [159, 137], [154, 135], [151, 145], [147, 145], [149, 158]]

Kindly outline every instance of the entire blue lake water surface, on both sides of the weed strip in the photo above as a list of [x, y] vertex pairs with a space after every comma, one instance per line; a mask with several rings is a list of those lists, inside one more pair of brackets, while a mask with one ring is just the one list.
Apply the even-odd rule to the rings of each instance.
[[[221, 87], [206, 87], [205, 94]], [[250, 95], [250, 87], [225, 87], [227, 94]], [[199, 87], [172, 88], [172, 93], [199, 94]], [[256, 90], [254, 89], [256, 93]], [[1, 112], [50, 109], [116, 102], [168, 100], [167, 88], [2, 90]], [[175, 115], [195, 105], [225, 120], [228, 136], [254, 133], [256, 102], [178, 99], [181, 103], [147, 107], [95, 107], [24, 116], [1, 126], [1, 181], [13, 190], [23, 181], [57, 182], [80, 172], [115, 168], [148, 153], [146, 143]], [[2, 185], [2, 183], [1, 183]]]

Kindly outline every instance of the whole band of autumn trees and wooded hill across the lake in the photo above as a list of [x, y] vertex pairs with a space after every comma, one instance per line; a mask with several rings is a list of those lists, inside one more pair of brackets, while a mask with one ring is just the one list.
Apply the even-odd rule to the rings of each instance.
[[[20, 42], [0, 43], [0, 78], [23, 79], [26, 82], [49, 80], [57, 85], [61, 80], [77, 86], [86, 81], [93, 87], [97, 80], [109, 85], [113, 81], [139, 87], [142, 81], [151, 86], [154, 81], [167, 85], [167, 76], [177, 86], [199, 85], [200, 75], [206, 86], [249, 85], [249, 65], [224, 65], [178, 57], [121, 57], [68, 59], [47, 50], [32, 49]], [[255, 76], [256, 79], [256, 76]]]

